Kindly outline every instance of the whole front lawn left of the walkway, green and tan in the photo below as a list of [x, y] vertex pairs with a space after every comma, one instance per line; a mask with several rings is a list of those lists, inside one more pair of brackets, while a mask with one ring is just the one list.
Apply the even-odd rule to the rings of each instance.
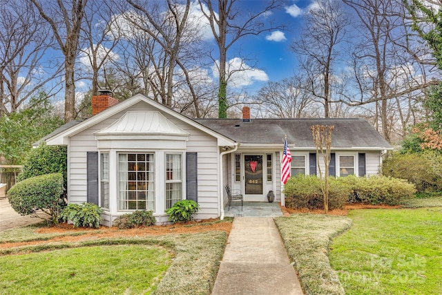
[[[221, 225], [231, 221], [123, 231], [3, 231], [0, 294], [211, 294], [227, 241], [222, 229], [231, 227]], [[164, 231], [171, 234], [158, 235]]]

